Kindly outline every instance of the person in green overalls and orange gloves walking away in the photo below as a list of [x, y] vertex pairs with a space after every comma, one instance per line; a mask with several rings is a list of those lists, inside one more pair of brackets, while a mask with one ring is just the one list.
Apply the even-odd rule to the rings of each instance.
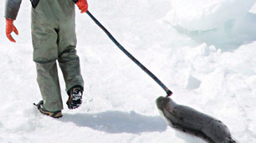
[[[22, 0], [7, 0], [5, 8], [6, 35], [16, 42], [12, 32], [18, 35], [13, 21], [18, 16]], [[87, 12], [86, 0], [31, 0], [31, 32], [33, 61], [36, 64], [37, 81], [43, 101], [34, 104], [38, 110], [54, 118], [62, 116], [63, 103], [60, 94], [57, 61], [63, 73], [65, 88], [69, 96], [69, 109], [82, 104], [84, 81], [76, 54], [74, 5], [81, 13]]]

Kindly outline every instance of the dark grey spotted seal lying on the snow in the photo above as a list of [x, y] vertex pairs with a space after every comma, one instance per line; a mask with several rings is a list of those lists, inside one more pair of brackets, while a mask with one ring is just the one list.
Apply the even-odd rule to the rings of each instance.
[[196, 111], [189, 106], [178, 105], [169, 97], [160, 96], [156, 106], [169, 126], [179, 131], [201, 137], [210, 143], [236, 143], [228, 127], [212, 116]]

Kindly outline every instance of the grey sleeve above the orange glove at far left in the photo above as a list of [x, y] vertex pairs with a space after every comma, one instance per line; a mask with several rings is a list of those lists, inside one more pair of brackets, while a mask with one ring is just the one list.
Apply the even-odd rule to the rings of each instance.
[[22, 0], [6, 0], [5, 17], [8, 19], [16, 19], [18, 10]]

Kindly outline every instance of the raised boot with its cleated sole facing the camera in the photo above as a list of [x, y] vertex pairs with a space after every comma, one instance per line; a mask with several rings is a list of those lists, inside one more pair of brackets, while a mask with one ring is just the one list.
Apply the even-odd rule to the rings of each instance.
[[74, 87], [69, 91], [67, 105], [69, 109], [76, 109], [82, 104], [83, 90], [80, 87]]

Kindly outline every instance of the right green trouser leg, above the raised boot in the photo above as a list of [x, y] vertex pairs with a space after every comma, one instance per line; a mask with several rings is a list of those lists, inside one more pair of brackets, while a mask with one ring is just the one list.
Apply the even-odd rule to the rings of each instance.
[[80, 72], [79, 57], [76, 54], [76, 35], [74, 23], [74, 2], [59, 1], [59, 67], [64, 75], [66, 91], [79, 86], [83, 90], [84, 81]]

